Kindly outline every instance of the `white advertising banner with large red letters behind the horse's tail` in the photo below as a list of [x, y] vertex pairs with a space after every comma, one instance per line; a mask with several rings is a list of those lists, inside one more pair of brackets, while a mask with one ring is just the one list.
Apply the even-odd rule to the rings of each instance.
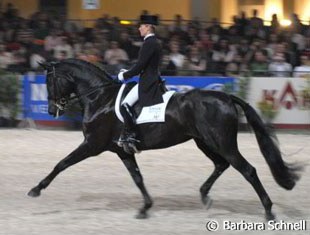
[[310, 128], [310, 86], [306, 78], [254, 77], [248, 102], [259, 110], [265, 102], [276, 112], [274, 124]]

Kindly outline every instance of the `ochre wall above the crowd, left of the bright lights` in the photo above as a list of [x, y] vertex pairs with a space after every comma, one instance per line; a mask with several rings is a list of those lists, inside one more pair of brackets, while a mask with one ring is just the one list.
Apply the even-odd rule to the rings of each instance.
[[[68, 18], [80, 20], [96, 19], [104, 13], [122, 17], [123, 19], [135, 19], [140, 14], [141, 10], [139, 9], [152, 9], [153, 12], [160, 12], [162, 18], [172, 19], [176, 12], [175, 7], [177, 7], [178, 14], [189, 19], [191, 9], [191, 0], [169, 0], [169, 6], [175, 7], [167, 7], [166, 0], [130, 0], [126, 4], [124, 4], [125, 1], [100, 0], [98, 9], [93, 10], [83, 9], [83, 0], [64, 0], [63, 2], [67, 8]], [[16, 9], [20, 10], [19, 14], [24, 18], [28, 18], [40, 9], [40, 0], [2, 0], [1, 3], [2, 6], [12, 3]], [[52, 3], [50, 4], [53, 5]]]

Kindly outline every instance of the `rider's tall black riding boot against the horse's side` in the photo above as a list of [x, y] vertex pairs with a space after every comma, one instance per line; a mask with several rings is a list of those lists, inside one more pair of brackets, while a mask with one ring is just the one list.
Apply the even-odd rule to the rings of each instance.
[[[126, 152], [137, 152], [136, 143], [138, 143], [139, 140], [136, 139], [136, 117], [134, 111], [127, 103], [125, 103], [122, 104], [120, 112], [124, 118], [124, 129], [118, 141], [118, 145], [123, 147]], [[133, 151], [129, 150], [130, 148]]]

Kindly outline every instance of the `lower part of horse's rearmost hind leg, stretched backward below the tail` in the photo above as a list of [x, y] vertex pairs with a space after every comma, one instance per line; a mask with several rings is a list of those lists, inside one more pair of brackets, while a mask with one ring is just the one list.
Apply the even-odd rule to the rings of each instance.
[[272, 202], [256, 174], [256, 169], [238, 150], [229, 152], [226, 160], [253, 186], [265, 208], [266, 219], [273, 220], [275, 217], [271, 212]]

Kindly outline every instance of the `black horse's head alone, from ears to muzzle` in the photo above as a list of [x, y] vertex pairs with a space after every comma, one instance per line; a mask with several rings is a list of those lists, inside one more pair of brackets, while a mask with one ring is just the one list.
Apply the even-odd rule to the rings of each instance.
[[48, 113], [54, 117], [65, 113], [68, 99], [74, 91], [74, 80], [63, 69], [60, 69], [59, 62], [39, 63], [46, 71], [46, 87], [48, 94]]

